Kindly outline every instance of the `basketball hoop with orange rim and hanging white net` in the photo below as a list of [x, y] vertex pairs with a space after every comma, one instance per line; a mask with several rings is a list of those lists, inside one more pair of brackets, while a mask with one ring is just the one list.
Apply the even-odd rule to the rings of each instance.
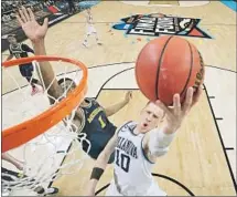
[[[45, 87], [41, 72], [36, 71], [40, 71], [39, 62], [47, 61], [52, 62], [55, 75]], [[33, 64], [33, 77], [43, 83], [42, 94], [30, 96], [28, 94], [30, 85], [20, 85], [21, 79], [13, 74], [14, 65], [21, 66], [25, 63]], [[15, 178], [2, 173], [3, 176], [13, 179], [12, 182], [2, 179], [2, 187], [11, 190], [22, 188], [32, 190], [42, 185], [47, 187], [62, 175], [80, 169], [84, 160], [88, 158], [83, 152], [82, 144], [88, 145], [86, 149], [88, 153], [90, 142], [85, 133], [80, 133], [82, 125], [78, 126], [74, 117], [87, 92], [87, 68], [82, 62], [67, 58], [36, 55], [3, 62], [2, 69], [3, 77], [6, 80], [8, 77], [8, 84], [17, 86], [2, 95], [2, 153], [10, 151], [14, 157], [23, 160], [23, 175], [26, 176]], [[63, 94], [57, 98], [53, 97], [54, 104], [50, 104], [49, 97], [52, 96], [47, 91], [53, 82], [57, 81], [58, 75], [63, 80], [72, 79], [76, 87], [72, 90], [72, 84], [67, 84], [68, 87], [63, 90]], [[23, 81], [25, 82], [24, 79]]]

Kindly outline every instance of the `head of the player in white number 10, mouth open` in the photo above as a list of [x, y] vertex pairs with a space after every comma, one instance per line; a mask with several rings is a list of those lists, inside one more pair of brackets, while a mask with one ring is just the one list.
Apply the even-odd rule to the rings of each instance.
[[164, 118], [164, 111], [155, 105], [153, 102], [148, 102], [142, 108], [139, 117], [139, 128], [141, 133], [147, 133], [158, 126]]

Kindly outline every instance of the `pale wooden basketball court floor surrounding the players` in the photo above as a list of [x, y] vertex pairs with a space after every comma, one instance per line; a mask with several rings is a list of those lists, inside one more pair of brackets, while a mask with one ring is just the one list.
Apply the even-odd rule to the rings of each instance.
[[[97, 97], [103, 106], [122, 100], [126, 90], [133, 91], [132, 102], [111, 116], [116, 125], [138, 118], [139, 111], [147, 102], [136, 85], [133, 62], [148, 42], [148, 37], [125, 37], [123, 31], [114, 30], [111, 25], [125, 17], [138, 13], [160, 12], [202, 19], [201, 29], [213, 39], [185, 39], [200, 49], [207, 65], [204, 94], [185, 120], [168, 155], [158, 159], [153, 174], [169, 196], [236, 196], [236, 12], [217, 1], [188, 8], [103, 1], [91, 11], [103, 46], [96, 45], [95, 40], [90, 39], [90, 48], [83, 48], [85, 15], [78, 13], [50, 28], [46, 50], [49, 54], [77, 59], [91, 68], [88, 94]], [[29, 41], [25, 43], [30, 44]], [[61, 71], [61, 66], [55, 69], [57, 73]], [[15, 68], [11, 72], [21, 85], [25, 84]], [[96, 76], [98, 80], [95, 81]], [[2, 91], [9, 92], [12, 89], [3, 71]], [[78, 158], [82, 154], [78, 153]], [[69, 157], [65, 162], [67, 159]], [[53, 186], [61, 189], [61, 196], [84, 195], [93, 165], [93, 159], [86, 159], [79, 172], [61, 177]], [[111, 177], [112, 166], [109, 166], [97, 189], [109, 184]]]

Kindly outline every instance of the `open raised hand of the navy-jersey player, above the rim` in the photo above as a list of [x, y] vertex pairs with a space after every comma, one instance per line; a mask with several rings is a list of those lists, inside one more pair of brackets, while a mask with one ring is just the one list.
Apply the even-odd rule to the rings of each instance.
[[44, 19], [43, 25], [40, 25], [37, 21], [34, 18], [34, 13], [30, 8], [25, 9], [22, 7], [22, 9], [19, 9], [19, 14], [17, 14], [17, 19], [19, 23], [21, 24], [24, 33], [32, 42], [37, 42], [42, 39], [44, 39], [46, 32], [47, 32], [47, 23], [49, 19]]

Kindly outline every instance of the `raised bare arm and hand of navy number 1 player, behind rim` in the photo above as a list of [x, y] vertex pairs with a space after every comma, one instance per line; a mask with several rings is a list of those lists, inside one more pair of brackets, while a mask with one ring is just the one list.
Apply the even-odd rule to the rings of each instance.
[[[32, 41], [32, 45], [34, 48], [35, 55], [46, 55], [44, 38], [47, 32], [47, 18], [44, 19], [43, 25], [40, 25], [34, 18], [34, 14], [30, 8], [19, 10], [19, 15], [17, 15], [19, 23], [22, 27], [25, 35]], [[49, 89], [49, 95], [57, 98], [62, 95], [63, 91], [58, 85], [55, 79], [55, 74], [53, 68], [50, 62], [40, 62], [40, 69], [42, 73], [42, 77], [47, 89], [52, 83], [51, 87]], [[51, 103], [54, 103], [54, 100], [51, 100]]]

